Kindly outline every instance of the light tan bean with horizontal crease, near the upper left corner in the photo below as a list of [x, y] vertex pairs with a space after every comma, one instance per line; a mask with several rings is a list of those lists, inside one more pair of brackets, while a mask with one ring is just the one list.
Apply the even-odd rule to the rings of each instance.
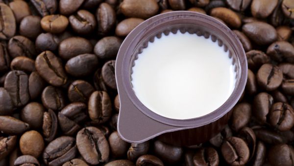
[[48, 15], [42, 18], [41, 27], [50, 33], [61, 33], [69, 24], [69, 20], [63, 15]]

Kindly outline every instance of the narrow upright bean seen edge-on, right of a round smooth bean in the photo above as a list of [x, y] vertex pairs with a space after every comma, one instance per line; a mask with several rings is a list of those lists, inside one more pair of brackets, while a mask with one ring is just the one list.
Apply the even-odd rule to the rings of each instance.
[[51, 109], [43, 114], [42, 128], [45, 141], [52, 141], [57, 134], [57, 117]]

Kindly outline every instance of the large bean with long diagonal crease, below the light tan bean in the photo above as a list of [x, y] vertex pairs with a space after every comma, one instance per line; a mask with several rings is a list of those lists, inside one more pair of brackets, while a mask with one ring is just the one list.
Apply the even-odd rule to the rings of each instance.
[[38, 55], [35, 66], [40, 76], [51, 85], [61, 86], [67, 82], [61, 60], [51, 51], [44, 51]]

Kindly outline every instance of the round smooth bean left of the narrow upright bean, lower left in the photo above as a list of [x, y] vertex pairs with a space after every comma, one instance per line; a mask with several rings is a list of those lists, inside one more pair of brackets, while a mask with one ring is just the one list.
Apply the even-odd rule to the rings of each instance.
[[42, 128], [44, 112], [45, 108], [42, 104], [31, 102], [26, 104], [22, 109], [21, 118], [25, 123], [29, 124], [31, 128], [40, 129]]

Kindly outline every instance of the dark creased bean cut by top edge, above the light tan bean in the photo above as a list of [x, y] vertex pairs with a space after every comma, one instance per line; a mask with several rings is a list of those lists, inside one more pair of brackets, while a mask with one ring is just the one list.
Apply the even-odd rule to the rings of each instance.
[[30, 0], [30, 1], [42, 17], [54, 14], [57, 9], [56, 0]]

